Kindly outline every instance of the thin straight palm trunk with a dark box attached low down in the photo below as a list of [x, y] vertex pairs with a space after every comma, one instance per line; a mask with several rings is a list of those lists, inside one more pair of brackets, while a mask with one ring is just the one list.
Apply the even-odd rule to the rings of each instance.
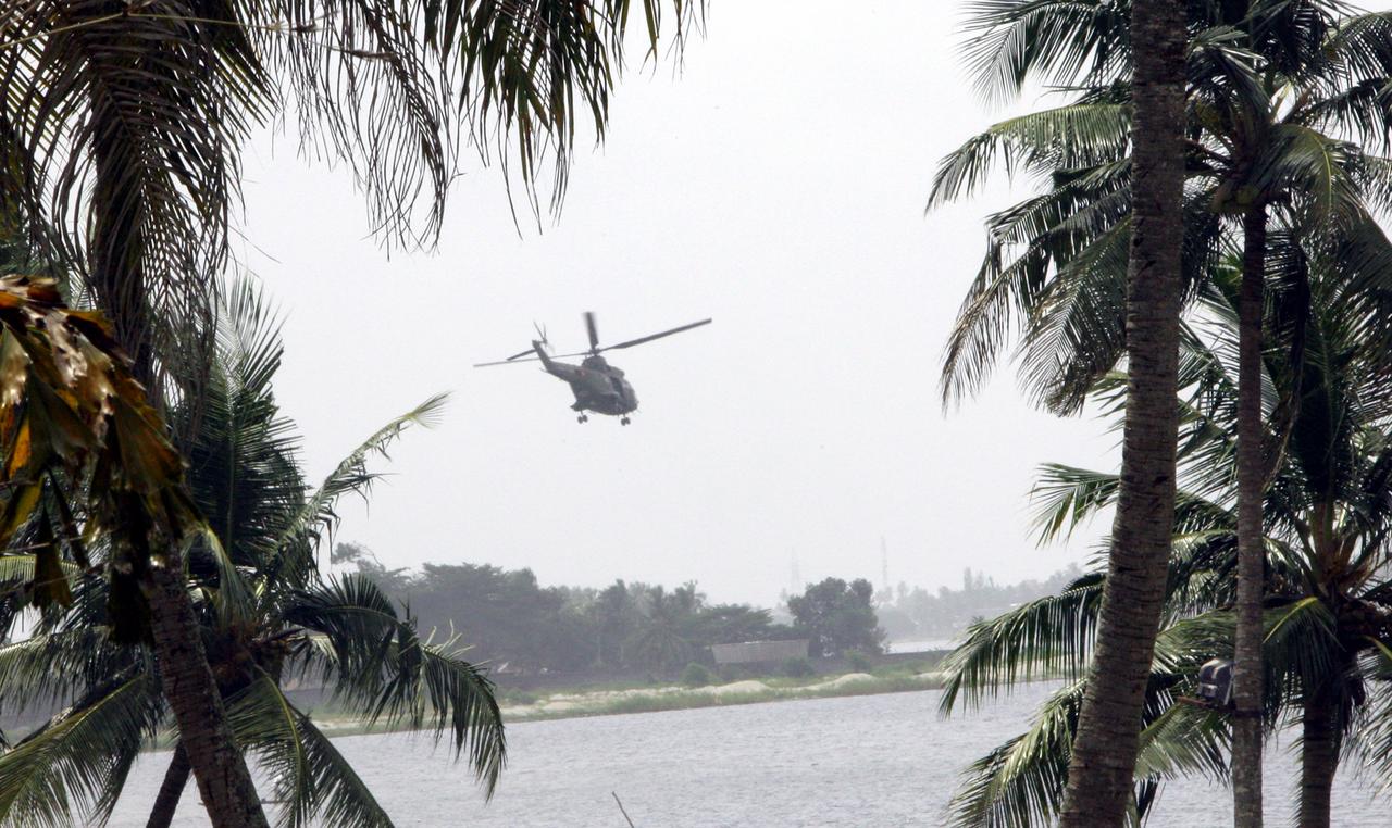
[[1232, 722], [1232, 800], [1236, 828], [1261, 828], [1261, 598], [1265, 582], [1261, 509], [1265, 458], [1261, 416], [1261, 320], [1267, 274], [1267, 209], [1243, 216], [1237, 295], [1237, 635]]

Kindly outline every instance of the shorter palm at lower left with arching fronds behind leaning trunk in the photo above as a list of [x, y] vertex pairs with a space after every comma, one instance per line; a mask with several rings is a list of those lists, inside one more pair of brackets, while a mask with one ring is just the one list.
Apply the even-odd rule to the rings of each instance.
[[[310, 490], [294, 423], [271, 394], [280, 358], [274, 320], [248, 285], [234, 285], [224, 294], [203, 405], [174, 412], [192, 434], [189, 488], [209, 515], [207, 533], [188, 551], [193, 605], [238, 743], [271, 771], [283, 824], [391, 825], [281, 689], [291, 678], [320, 679], [340, 706], [369, 721], [448, 733], [455, 756], [466, 750], [491, 793], [505, 757], [491, 682], [462, 658], [457, 640], [422, 639], [411, 615], [369, 579], [323, 578], [316, 568], [337, 525], [334, 502], [365, 495], [377, 477], [366, 458], [405, 429], [429, 424], [443, 399], [388, 423]], [[196, 423], [182, 423], [195, 415]], [[107, 580], [90, 573], [75, 580], [70, 608], [45, 614], [31, 637], [0, 647], [7, 707], [70, 704], [0, 756], [0, 821], [104, 820], [136, 754], [170, 718], [161, 665], [146, 647], [103, 632]], [[188, 775], [180, 733], [150, 825], [168, 825]]]

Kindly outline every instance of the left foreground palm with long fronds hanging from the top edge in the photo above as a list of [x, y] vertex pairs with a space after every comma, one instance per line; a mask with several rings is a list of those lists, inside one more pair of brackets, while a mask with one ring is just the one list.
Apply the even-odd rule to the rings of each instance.
[[[665, 4], [644, 1], [656, 53]], [[677, 39], [700, 0], [672, 0]], [[576, 125], [603, 136], [629, 0], [39, 0], [0, 10], [0, 207], [81, 277], [136, 379], [196, 399], [251, 129], [298, 118], [347, 161], [387, 239], [429, 244], [455, 149], [497, 153], [558, 206]], [[548, 164], [548, 159], [551, 163]], [[425, 217], [413, 216], [426, 195]], [[420, 235], [416, 235], [420, 234]], [[217, 825], [264, 825], [198, 640], [177, 544], [150, 568], [164, 690]]]

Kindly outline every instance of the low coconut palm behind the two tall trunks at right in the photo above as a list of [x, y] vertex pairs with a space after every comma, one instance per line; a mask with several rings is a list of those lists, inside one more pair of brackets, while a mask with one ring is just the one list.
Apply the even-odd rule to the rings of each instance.
[[[1322, 270], [1322, 269], [1317, 269]], [[1134, 778], [1134, 817], [1158, 783], [1189, 772], [1226, 774], [1231, 722], [1176, 699], [1194, 694], [1199, 664], [1224, 653], [1235, 635], [1237, 597], [1236, 470], [1240, 264], [1204, 288], [1199, 319], [1186, 326], [1180, 377], [1182, 491], [1173, 522], [1165, 622], [1147, 686], [1146, 731]], [[1299, 365], [1286, 351], [1265, 355], [1271, 390], [1299, 381], [1302, 405], [1288, 449], [1272, 473], [1264, 511], [1264, 710], [1302, 728], [1300, 825], [1329, 824], [1329, 792], [1340, 753], [1367, 756], [1392, 728], [1392, 590], [1384, 578], [1392, 532], [1392, 384], [1368, 347], [1368, 320], [1347, 312], [1342, 274], [1313, 280], [1302, 324]], [[1275, 306], [1283, 296], [1275, 296]], [[1282, 323], [1268, 316], [1268, 328]], [[1293, 370], [1299, 369], [1299, 377]], [[1121, 379], [1102, 384], [1118, 404]], [[1267, 405], [1276, 405], [1276, 392]], [[1268, 440], [1278, 436], [1268, 423]], [[1037, 488], [1041, 539], [1068, 533], [1114, 504], [1118, 477], [1048, 466]], [[1027, 733], [976, 763], [955, 800], [959, 825], [1031, 825], [1058, 809], [1061, 768], [1076, 728], [1077, 676], [1093, 657], [1098, 594], [1108, 573], [1079, 579], [1058, 596], [977, 625], [949, 667], [944, 708], [973, 704], [1019, 680], [1062, 676], [1069, 683], [1037, 714]], [[1360, 738], [1359, 733], [1370, 733]], [[1384, 775], [1392, 765], [1378, 768]]]

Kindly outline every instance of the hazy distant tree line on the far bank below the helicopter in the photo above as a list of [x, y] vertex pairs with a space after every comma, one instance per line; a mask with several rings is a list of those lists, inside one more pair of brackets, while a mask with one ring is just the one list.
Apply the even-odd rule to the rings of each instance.
[[714, 604], [695, 582], [678, 587], [615, 580], [596, 587], [541, 586], [530, 569], [425, 564], [388, 569], [354, 543], [333, 562], [356, 568], [409, 605], [422, 635], [458, 635], [472, 661], [521, 672], [674, 671], [711, 662], [711, 644], [807, 639], [813, 657], [877, 654], [888, 639], [951, 637], [973, 621], [1051, 594], [1082, 575], [1073, 565], [1043, 580], [997, 584], [967, 569], [962, 589], [930, 593], [901, 583], [874, 591], [866, 579], [827, 578], [784, 594], [785, 622], [750, 604]]

